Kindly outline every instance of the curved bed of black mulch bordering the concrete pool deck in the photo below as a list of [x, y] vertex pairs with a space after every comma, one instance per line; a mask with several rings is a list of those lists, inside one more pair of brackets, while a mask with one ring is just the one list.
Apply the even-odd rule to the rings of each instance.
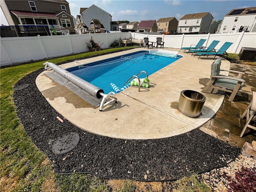
[[[239, 148], [199, 129], [154, 140], [115, 139], [81, 130], [64, 120], [39, 92], [35, 80], [43, 70], [32, 72], [15, 85], [14, 103], [28, 136], [48, 156], [57, 173], [90, 172], [134, 180], [146, 180], [147, 175], [148, 181], [171, 180], [226, 166], [239, 152]], [[66, 154], [54, 154], [54, 141], [69, 132], [79, 134], [78, 145]]]

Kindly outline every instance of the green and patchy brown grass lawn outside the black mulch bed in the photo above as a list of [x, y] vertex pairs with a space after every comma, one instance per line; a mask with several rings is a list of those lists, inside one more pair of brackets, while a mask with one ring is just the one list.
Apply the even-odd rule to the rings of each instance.
[[[134, 48], [134, 47], [130, 47]], [[84, 58], [97, 54], [106, 54], [130, 48], [110, 48], [97, 52], [86, 52], [47, 60], [55, 64]], [[143, 192], [170, 191], [211, 191], [208, 186], [198, 182], [197, 176], [179, 180], [174, 184], [169, 182], [135, 182], [131, 180], [104, 180], [86, 174], [54, 174], [52, 166], [44, 153], [34, 146], [26, 135], [20, 120], [17, 117], [13, 102], [13, 88], [16, 82], [31, 72], [43, 68], [45, 61], [22, 64], [0, 70], [0, 188], [1, 191], [47, 191], [47, 192], [131, 192], [135, 189]], [[185, 181], [184, 181], [185, 180]], [[186, 186], [188, 183], [193, 185]]]

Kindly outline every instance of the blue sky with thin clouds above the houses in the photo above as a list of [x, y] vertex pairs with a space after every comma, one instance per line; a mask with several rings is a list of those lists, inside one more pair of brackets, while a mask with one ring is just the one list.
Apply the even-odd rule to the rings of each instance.
[[[36, 2], [36, 0], [34, 0]], [[158, 20], [175, 17], [179, 20], [185, 14], [210, 12], [213, 20], [223, 20], [232, 9], [256, 7], [255, 0], [67, 0], [71, 15], [76, 18], [80, 8], [95, 4], [112, 16], [112, 21]], [[8, 25], [2, 9], [0, 24]]]

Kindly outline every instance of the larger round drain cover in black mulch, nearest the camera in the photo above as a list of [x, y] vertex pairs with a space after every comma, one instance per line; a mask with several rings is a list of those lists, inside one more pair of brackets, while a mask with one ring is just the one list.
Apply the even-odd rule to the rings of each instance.
[[52, 152], [55, 154], [64, 154], [74, 149], [80, 140], [80, 136], [75, 132], [64, 134], [54, 141]]

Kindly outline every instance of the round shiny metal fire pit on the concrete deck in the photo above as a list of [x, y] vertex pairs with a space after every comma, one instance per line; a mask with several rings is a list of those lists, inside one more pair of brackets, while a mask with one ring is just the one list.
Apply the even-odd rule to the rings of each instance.
[[197, 117], [200, 115], [206, 97], [193, 90], [183, 90], [180, 92], [178, 110], [188, 117]]

